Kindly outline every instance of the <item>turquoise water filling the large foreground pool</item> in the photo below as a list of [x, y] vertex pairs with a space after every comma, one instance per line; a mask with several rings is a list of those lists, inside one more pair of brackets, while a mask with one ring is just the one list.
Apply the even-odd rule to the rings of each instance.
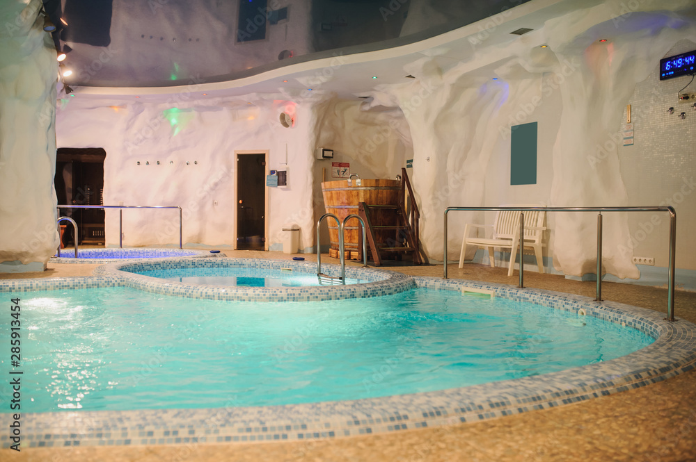
[[[607, 361], [653, 342], [593, 317], [445, 290], [274, 304], [131, 288], [21, 298], [24, 412], [417, 393]], [[9, 338], [8, 324], [1, 338]], [[0, 361], [8, 370], [8, 358]], [[8, 388], [0, 390], [7, 399]]]

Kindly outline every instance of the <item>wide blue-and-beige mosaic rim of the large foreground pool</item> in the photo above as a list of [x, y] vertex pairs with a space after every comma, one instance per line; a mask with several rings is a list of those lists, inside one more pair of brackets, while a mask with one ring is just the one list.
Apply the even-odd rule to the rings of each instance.
[[[84, 284], [86, 279], [113, 283], [116, 277], [82, 278], [74, 284]], [[496, 297], [531, 301], [578, 315], [584, 312], [640, 329], [656, 341], [638, 352], [603, 363], [429, 393], [286, 406], [236, 407], [230, 401], [226, 407], [217, 409], [24, 413], [23, 444], [28, 443], [29, 447], [196, 445], [342, 438], [551, 409], [639, 388], [696, 368], [696, 326], [683, 320], [667, 322], [657, 311], [500, 284], [428, 277], [407, 279], [418, 287], [459, 291], [480, 288], [495, 292]], [[10, 415], [0, 414], [0, 426], [7, 428], [9, 424]], [[9, 445], [8, 435], [1, 434], [0, 447]]]

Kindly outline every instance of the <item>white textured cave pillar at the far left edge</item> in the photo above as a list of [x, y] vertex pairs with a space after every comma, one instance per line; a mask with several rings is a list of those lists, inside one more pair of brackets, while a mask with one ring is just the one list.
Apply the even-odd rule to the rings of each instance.
[[[0, 1], [0, 271], [42, 270], [58, 247], [58, 65], [42, 3]], [[22, 269], [20, 265], [29, 265]]]

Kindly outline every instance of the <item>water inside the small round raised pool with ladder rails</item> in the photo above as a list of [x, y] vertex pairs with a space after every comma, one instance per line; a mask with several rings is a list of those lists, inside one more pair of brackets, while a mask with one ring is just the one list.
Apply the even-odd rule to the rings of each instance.
[[[127, 269], [125, 271], [128, 271]], [[319, 284], [317, 274], [299, 271], [267, 270], [255, 267], [192, 267], [137, 271], [135, 274], [166, 281], [212, 286], [239, 287], [306, 287]], [[346, 284], [366, 283], [361, 279], [346, 279]]]

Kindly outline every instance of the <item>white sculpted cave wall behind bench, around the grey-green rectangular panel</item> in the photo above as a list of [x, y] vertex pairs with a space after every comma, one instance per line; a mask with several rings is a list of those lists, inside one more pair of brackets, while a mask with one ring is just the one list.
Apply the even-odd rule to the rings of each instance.
[[[480, 53], [472, 61], [448, 72], [436, 57], [423, 58], [404, 69], [416, 81], [385, 85], [374, 93], [373, 106], [401, 108], [411, 127], [413, 183], [425, 215], [421, 236], [431, 258], [443, 258], [447, 206], [626, 206], [633, 201], [617, 146], [601, 154], [599, 165], [592, 157], [613, 140], [636, 83], [678, 40], [693, 36], [695, 23], [688, 10], [686, 16], [661, 11], [664, 3], [645, 2], [641, 8], [658, 11], [617, 19], [618, 7], [612, 1], [577, 10], [505, 47], [477, 44]], [[672, 8], [684, 11], [693, 3], [672, 3]], [[600, 43], [604, 37], [611, 40]], [[539, 49], [545, 43], [549, 47]], [[505, 82], [492, 81], [493, 76]], [[549, 82], [555, 88], [549, 89]], [[523, 122], [539, 122], [537, 160], [544, 165], [537, 167], [537, 185], [511, 186], [509, 140], [502, 140], [501, 133], [521, 122], [516, 116], [529, 104], [535, 107]], [[647, 166], [646, 172], [651, 169]], [[605, 216], [604, 265], [606, 272], [635, 278], [633, 254], [619, 247], [629, 236], [627, 215]], [[449, 259], [459, 256], [464, 223], [479, 220], [474, 213], [452, 215]], [[487, 220], [491, 223], [492, 217]], [[574, 276], [594, 272], [596, 214], [559, 213], [549, 226], [555, 268]], [[681, 249], [686, 245], [684, 236]]]

